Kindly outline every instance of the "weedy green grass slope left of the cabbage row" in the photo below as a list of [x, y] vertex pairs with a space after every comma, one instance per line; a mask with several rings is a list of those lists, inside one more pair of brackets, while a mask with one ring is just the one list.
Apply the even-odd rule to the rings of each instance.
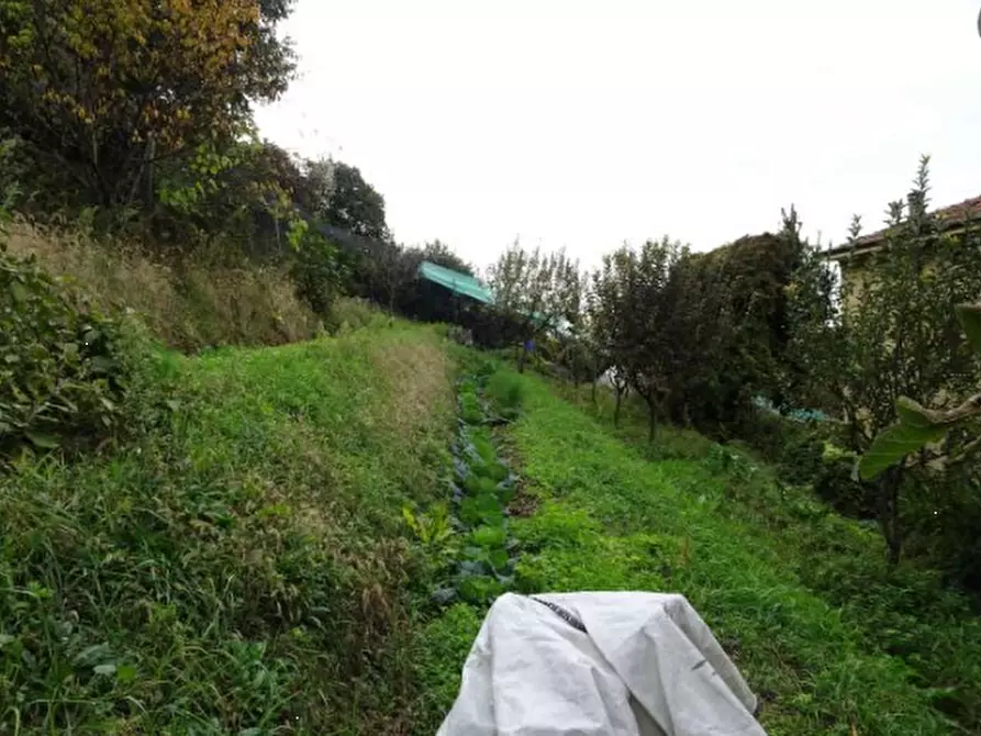
[[404, 731], [448, 368], [402, 326], [180, 359], [169, 426], [0, 478], [0, 734]]

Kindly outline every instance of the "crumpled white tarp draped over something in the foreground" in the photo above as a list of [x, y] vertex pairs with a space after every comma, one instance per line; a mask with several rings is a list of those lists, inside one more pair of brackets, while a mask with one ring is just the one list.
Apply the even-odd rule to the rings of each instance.
[[755, 711], [683, 595], [506, 593], [437, 736], [765, 736]]

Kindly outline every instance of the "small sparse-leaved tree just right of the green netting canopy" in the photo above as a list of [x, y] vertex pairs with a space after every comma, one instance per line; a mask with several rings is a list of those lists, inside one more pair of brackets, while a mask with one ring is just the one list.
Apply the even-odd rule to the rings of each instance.
[[580, 279], [578, 261], [565, 250], [525, 250], [516, 241], [491, 267], [494, 305], [514, 320], [522, 342], [519, 370], [524, 370], [529, 342], [578, 321]]

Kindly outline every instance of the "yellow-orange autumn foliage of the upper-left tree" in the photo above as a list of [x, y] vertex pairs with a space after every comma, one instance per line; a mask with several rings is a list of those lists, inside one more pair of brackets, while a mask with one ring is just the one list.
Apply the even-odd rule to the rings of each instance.
[[[253, 83], [243, 69], [258, 37], [256, 0], [53, 0], [24, 7], [23, 18], [13, 18], [0, 0], [0, 70], [14, 80], [19, 103], [37, 116], [124, 130], [133, 142], [153, 137], [159, 153], [227, 135], [238, 124], [236, 105]], [[53, 57], [45, 46], [63, 53]]]

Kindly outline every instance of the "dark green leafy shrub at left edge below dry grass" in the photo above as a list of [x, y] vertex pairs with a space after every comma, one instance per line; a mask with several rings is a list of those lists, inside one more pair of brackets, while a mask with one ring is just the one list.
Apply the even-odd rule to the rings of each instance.
[[0, 456], [113, 428], [126, 382], [118, 333], [35, 259], [0, 250]]

